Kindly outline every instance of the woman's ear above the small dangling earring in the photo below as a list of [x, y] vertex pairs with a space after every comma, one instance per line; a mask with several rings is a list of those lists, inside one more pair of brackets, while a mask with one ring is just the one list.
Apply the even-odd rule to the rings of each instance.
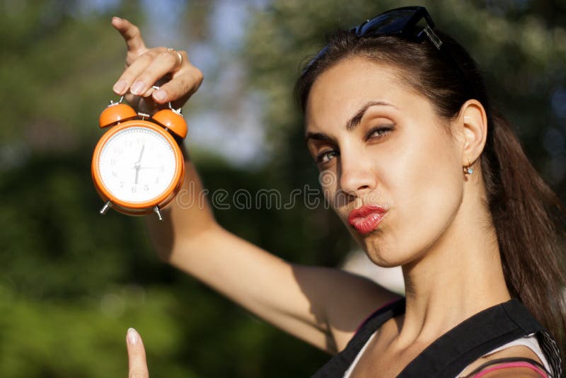
[[487, 115], [477, 100], [468, 100], [460, 108], [457, 130], [461, 140], [462, 166], [474, 164], [483, 151], [487, 138]]

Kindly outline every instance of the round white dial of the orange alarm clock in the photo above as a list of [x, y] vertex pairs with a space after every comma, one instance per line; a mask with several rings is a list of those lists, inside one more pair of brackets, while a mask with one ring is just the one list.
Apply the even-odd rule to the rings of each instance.
[[98, 169], [105, 188], [126, 202], [146, 202], [171, 185], [176, 160], [173, 146], [148, 127], [129, 127], [105, 143]]

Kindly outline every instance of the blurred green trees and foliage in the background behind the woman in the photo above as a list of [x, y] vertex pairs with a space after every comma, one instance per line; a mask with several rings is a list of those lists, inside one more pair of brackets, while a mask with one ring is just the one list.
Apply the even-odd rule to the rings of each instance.
[[[478, 60], [564, 203], [566, 1], [422, 4]], [[110, 19], [137, 23], [150, 46], [187, 50], [204, 72], [184, 113], [207, 188], [285, 194], [318, 188], [291, 98], [299, 67], [325, 34], [402, 5], [1, 0], [0, 377], [126, 377], [129, 326], [144, 338], [152, 377], [305, 377], [328, 360], [161, 263], [143, 219], [98, 214], [90, 159], [125, 57]], [[215, 214], [295, 262], [339, 266], [356, 251], [323, 207]]]

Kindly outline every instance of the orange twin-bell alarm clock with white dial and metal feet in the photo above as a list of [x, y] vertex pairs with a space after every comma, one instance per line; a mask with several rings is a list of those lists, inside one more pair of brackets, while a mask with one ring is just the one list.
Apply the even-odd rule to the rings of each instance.
[[175, 137], [184, 139], [187, 122], [169, 103], [153, 116], [110, 101], [100, 114], [100, 127], [110, 127], [96, 144], [91, 172], [105, 205], [128, 215], [155, 212], [178, 193], [185, 176], [183, 153]]

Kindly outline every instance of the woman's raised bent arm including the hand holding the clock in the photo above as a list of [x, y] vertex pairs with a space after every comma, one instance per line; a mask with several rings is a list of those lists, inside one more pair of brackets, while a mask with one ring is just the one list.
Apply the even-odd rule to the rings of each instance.
[[[134, 25], [120, 19], [112, 24], [129, 49], [129, 67], [118, 83], [127, 83], [127, 88], [137, 81], [149, 83], [140, 93], [157, 100], [156, 92], [146, 88], [174, 71], [171, 81], [161, 86], [166, 97], [159, 103], [185, 101], [200, 86], [202, 74], [184, 52], [177, 69], [173, 53], [164, 47], [148, 50]], [[117, 93], [124, 94], [127, 88]], [[187, 159], [183, 188], [164, 210], [163, 222], [147, 217], [151, 240], [163, 260], [262, 319], [333, 353], [345, 348], [368, 314], [398, 297], [341, 270], [288, 263], [231, 234], [215, 221], [203, 189], [194, 164]]]

